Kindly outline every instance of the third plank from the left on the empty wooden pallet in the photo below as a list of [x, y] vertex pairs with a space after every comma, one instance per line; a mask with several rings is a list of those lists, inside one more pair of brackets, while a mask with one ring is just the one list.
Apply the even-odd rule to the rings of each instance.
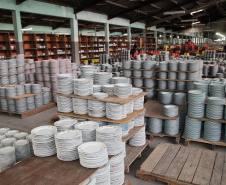
[[177, 179], [180, 175], [181, 169], [184, 166], [184, 163], [187, 160], [187, 157], [190, 153], [190, 148], [182, 146], [174, 158], [173, 162], [170, 164], [168, 170], [165, 173], [165, 177], [172, 179]]

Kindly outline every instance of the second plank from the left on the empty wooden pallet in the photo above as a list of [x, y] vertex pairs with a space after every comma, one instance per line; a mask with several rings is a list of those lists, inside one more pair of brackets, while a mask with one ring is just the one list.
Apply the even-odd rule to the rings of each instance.
[[170, 145], [167, 151], [164, 153], [163, 157], [153, 169], [152, 173], [164, 176], [180, 148], [180, 145]]

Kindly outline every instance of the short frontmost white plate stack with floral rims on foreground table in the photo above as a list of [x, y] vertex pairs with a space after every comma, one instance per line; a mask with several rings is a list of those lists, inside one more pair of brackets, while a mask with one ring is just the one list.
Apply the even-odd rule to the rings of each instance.
[[80, 164], [85, 168], [99, 168], [108, 163], [107, 147], [100, 142], [87, 142], [78, 147]]

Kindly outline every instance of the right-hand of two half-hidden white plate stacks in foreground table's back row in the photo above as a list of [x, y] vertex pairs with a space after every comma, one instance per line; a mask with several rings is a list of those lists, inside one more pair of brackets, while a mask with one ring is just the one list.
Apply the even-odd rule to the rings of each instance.
[[96, 129], [99, 124], [95, 121], [84, 121], [75, 124], [75, 129], [82, 132], [83, 142], [95, 141], [96, 140]]

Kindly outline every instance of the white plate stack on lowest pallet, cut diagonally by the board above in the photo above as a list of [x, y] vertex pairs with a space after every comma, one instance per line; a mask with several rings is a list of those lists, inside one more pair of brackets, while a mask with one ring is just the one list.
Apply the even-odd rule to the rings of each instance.
[[143, 146], [146, 143], [145, 127], [142, 127], [130, 140], [131, 146]]

